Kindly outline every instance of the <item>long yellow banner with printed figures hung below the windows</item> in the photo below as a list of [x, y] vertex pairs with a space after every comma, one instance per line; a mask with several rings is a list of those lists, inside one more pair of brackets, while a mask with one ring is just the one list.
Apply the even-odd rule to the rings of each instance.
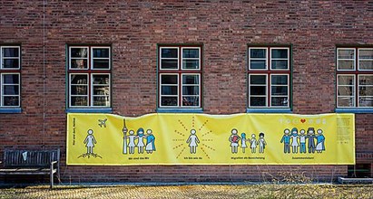
[[351, 165], [354, 114], [67, 115], [67, 165]]

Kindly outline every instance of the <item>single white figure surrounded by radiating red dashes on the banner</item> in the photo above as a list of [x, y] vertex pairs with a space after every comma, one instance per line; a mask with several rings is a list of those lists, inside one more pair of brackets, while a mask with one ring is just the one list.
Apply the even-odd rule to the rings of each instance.
[[176, 158], [181, 157], [183, 153], [188, 153], [190, 155], [198, 154], [210, 159], [209, 152], [215, 151], [215, 148], [210, 146], [210, 143], [213, 142], [213, 138], [209, 137], [212, 131], [205, 129], [209, 120], [206, 119], [201, 127], [195, 126], [194, 116], [191, 117], [190, 127], [185, 125], [182, 119], [178, 119], [178, 122], [182, 128], [174, 131], [176, 137], [172, 139], [175, 143], [172, 148], [179, 151]]

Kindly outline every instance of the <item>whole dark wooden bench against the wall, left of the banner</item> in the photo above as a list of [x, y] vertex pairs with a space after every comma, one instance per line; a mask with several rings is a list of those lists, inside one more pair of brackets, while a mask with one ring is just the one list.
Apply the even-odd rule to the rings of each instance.
[[49, 175], [52, 188], [54, 174], [60, 179], [60, 149], [4, 151], [0, 175]]

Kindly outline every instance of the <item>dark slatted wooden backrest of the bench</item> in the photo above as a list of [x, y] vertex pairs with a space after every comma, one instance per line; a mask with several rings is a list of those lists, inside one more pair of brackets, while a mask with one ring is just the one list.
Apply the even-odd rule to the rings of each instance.
[[60, 161], [60, 149], [56, 150], [9, 150], [4, 151], [5, 167], [48, 167]]

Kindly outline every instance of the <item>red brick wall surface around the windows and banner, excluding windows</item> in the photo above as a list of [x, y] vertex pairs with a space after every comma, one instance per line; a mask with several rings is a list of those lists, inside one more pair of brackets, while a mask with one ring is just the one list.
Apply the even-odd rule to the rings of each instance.
[[[195, 182], [265, 180], [305, 172], [318, 180], [348, 166], [65, 166], [66, 46], [109, 44], [113, 113], [157, 108], [157, 44], [203, 45], [202, 108], [245, 112], [248, 44], [292, 46], [292, 109], [334, 112], [336, 46], [373, 46], [370, 1], [0, 2], [0, 44], [22, 50], [22, 113], [0, 114], [5, 147], [62, 149], [62, 180]], [[45, 74], [45, 78], [44, 78]], [[356, 114], [357, 163], [373, 163], [373, 114]]]

